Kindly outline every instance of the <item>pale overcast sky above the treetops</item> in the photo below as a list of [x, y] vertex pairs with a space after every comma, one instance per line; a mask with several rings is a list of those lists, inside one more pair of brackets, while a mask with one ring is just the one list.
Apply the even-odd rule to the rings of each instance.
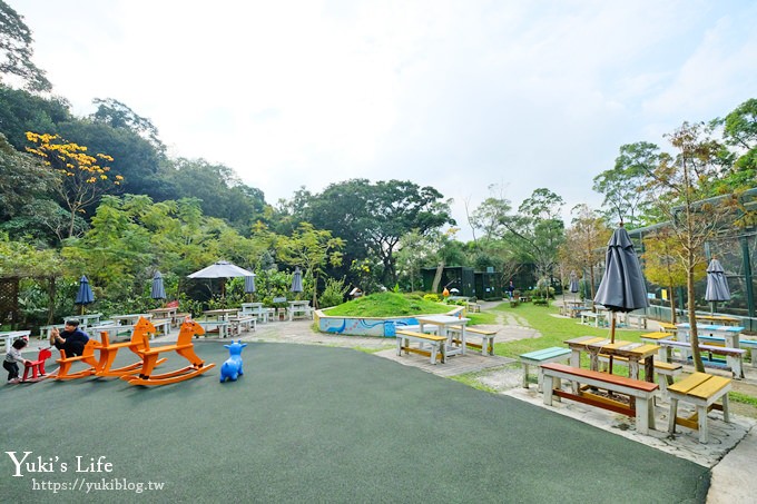
[[757, 98], [757, 2], [7, 0], [75, 113], [114, 98], [175, 157], [288, 199], [350, 178], [599, 207], [623, 144]]

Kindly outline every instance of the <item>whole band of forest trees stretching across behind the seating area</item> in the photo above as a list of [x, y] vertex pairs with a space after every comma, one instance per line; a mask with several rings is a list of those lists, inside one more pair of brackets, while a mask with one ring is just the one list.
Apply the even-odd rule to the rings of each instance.
[[[2, 1], [0, 14], [0, 279], [19, 286], [20, 325], [73, 313], [81, 275], [107, 313], [153, 307], [156, 271], [188, 310], [238, 302], [238, 280], [223, 302], [217, 285], [187, 280], [219, 259], [254, 271], [265, 303], [292, 294], [295, 267], [316, 306], [353, 287], [419, 290], [421, 268], [442, 266], [492, 267], [508, 280], [530, 265], [523, 288], [566, 285], [579, 271], [592, 290], [619, 220], [627, 229], [674, 223], [648, 235], [647, 250], [669, 260], [649, 256], [647, 277], [692, 285], [706, 241], [755, 225], [743, 197], [757, 186], [757, 99], [707, 122], [681, 118], [666, 145], [619, 146], [615, 166], [593, 179], [602, 206], [579, 205], [570, 221], [559, 187], [515, 207], [491, 185], [455, 223], [444, 195], [411, 180], [347, 179], [266, 201], [230, 167], [168, 156], [157, 125], [116, 98], [96, 98], [96, 111], [77, 117], [33, 65], [22, 18]], [[463, 226], [473, 236], [465, 243]]]

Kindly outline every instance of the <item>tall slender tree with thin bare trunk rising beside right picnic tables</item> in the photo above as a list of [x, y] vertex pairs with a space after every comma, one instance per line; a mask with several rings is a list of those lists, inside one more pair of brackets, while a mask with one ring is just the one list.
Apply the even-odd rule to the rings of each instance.
[[722, 229], [733, 207], [728, 205], [729, 198], [707, 199], [721, 175], [717, 165], [721, 146], [711, 138], [711, 130], [704, 123], [684, 122], [666, 138], [676, 155], [662, 155], [653, 169], [646, 168], [645, 187], [652, 192], [657, 210], [667, 217], [670, 234], [680, 246], [694, 363], [696, 369], [704, 373], [695, 314], [695, 279], [697, 269], [707, 263], [705, 243]]

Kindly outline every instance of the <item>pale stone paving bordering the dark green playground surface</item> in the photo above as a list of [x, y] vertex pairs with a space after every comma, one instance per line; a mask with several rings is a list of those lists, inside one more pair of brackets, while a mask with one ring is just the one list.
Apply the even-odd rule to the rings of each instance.
[[[540, 336], [517, 315], [502, 315], [495, 327], [499, 329], [498, 342]], [[176, 334], [170, 334], [156, 338], [154, 343], [159, 344], [175, 339], [175, 337]], [[427, 358], [419, 355], [396, 356], [393, 339], [315, 333], [311, 322], [302, 320], [258, 325], [255, 332], [243, 334], [240, 338], [250, 342], [353, 347], [439, 376], [473, 373], [474, 379], [489, 389], [544, 407], [541, 404], [541, 395], [535, 392], [535, 386], [532, 385], [529, 389], [522, 388], [520, 365], [504, 357], [483, 357], [476, 353], [469, 353], [465, 356], [459, 355], [450, 358], [449, 365], [432, 365]], [[43, 344], [45, 342], [32, 340], [31, 347]], [[756, 369], [747, 368], [746, 382], [757, 384]], [[757, 495], [757, 482], [749, 470], [754, 454], [757, 453], [757, 429], [754, 428], [757, 422], [753, 418], [731, 415], [733, 422], [726, 424], [719, 413], [711, 413], [709, 417], [711, 441], [702, 445], [698, 442], [698, 433], [684, 427], [678, 427], [675, 436], [668, 436], [663, 432], [667, 427], [668, 405], [662, 402], [659, 402], [656, 408], [659, 431], [653, 431], [650, 436], [638, 435], [629, 425], [626, 416], [579, 403], [566, 401], [556, 404], [550, 409], [711, 468], [712, 480], [708, 503], [754, 502], [754, 496]]]

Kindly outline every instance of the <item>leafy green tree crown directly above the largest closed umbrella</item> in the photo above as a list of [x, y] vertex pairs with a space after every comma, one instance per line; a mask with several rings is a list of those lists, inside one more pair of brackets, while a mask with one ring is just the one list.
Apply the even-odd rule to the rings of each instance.
[[593, 190], [604, 195], [602, 206], [606, 219], [613, 215], [628, 228], [638, 227], [641, 216], [649, 207], [647, 194], [642, 190], [645, 176], [659, 162], [659, 147], [639, 141], [620, 147], [615, 168], [594, 177]]

